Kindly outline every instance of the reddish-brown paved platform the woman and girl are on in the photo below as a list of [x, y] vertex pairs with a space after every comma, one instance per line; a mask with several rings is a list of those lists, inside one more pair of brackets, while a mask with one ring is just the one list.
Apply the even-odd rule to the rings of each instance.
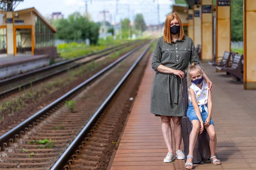
[[[216, 153], [222, 164], [214, 166], [206, 161], [203, 165], [195, 164], [195, 169], [256, 170], [256, 91], [244, 90], [242, 82], [225, 72], [215, 72], [215, 68], [207, 63], [201, 65], [213, 82], [212, 119], [218, 139]], [[185, 169], [184, 160], [163, 162], [168, 150], [160, 117], [150, 113], [154, 73], [149, 59], [111, 170]]]

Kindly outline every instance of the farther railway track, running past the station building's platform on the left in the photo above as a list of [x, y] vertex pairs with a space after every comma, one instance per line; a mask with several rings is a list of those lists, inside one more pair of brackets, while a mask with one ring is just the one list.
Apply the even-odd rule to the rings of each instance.
[[[135, 44], [140, 44], [141, 42], [142, 41], [136, 41]], [[79, 67], [80, 65], [84, 65], [93, 60], [105, 57], [113, 53], [114, 51], [119, 51], [122, 48], [129, 47], [133, 44], [134, 43], [130, 42], [127, 44], [117, 45], [99, 51], [97, 53], [92, 53], [75, 59], [66, 60], [34, 71], [29, 71], [25, 74], [20, 74], [15, 77], [0, 80], [0, 99], [3, 99], [10, 94], [15, 94], [21, 89], [29, 87], [31, 84], [34, 85], [35, 83], [56, 76], [70, 69]]]

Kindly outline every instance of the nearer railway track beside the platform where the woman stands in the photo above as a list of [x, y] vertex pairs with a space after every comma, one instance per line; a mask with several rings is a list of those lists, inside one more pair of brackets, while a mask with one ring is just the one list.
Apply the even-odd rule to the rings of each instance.
[[[144, 49], [143, 53], [139, 50], [140, 48]], [[98, 130], [99, 136], [109, 138], [110, 133], [108, 131], [112, 130], [111, 133], [113, 133], [114, 127], [118, 122], [120, 123], [120, 119], [117, 114], [113, 114], [110, 118], [105, 116], [105, 123], [100, 123], [100, 119], [106, 115], [102, 114], [102, 111], [148, 51], [148, 48], [148, 45], [141, 45], [130, 51], [46, 108], [0, 136], [0, 144], [2, 144], [0, 169], [48, 170], [53, 166], [52, 170], [61, 170], [70, 157], [77, 158], [73, 153], [84, 153], [82, 151], [83, 145], [87, 144], [85, 141], [89, 139], [86, 136], [92, 135], [92, 129]], [[140, 57], [138, 58], [138, 56]], [[76, 101], [74, 113], [64, 107], [65, 101], [70, 100]], [[118, 101], [124, 103], [121, 100]], [[100, 119], [97, 121], [99, 117]], [[100, 123], [103, 131], [97, 129], [94, 125], [95, 122], [96, 126]], [[85, 141], [83, 141], [84, 139]], [[94, 146], [91, 145], [91, 149], [97, 150], [98, 145], [105, 146], [104, 141], [104, 139], [98, 139], [97, 142], [91, 141], [90, 143], [95, 144]], [[96, 156], [90, 155], [86, 151], [85, 153], [87, 159], [98, 159], [100, 156], [100, 152], [96, 152], [98, 154]], [[56, 164], [54, 164], [55, 161], [57, 161]], [[72, 161], [69, 162], [72, 167]], [[91, 164], [93, 161], [88, 161], [88, 163]], [[94, 167], [98, 166], [95, 165]], [[65, 166], [65, 169], [69, 168], [69, 165]]]

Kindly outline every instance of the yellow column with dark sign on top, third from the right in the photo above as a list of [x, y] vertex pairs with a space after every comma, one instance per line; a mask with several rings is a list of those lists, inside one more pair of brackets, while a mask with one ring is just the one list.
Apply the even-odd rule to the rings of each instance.
[[202, 61], [212, 60], [212, 0], [201, 0]]

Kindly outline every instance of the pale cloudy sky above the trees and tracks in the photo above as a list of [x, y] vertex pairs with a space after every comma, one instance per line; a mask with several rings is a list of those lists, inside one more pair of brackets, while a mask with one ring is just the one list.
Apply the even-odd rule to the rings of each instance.
[[[24, 0], [15, 8], [35, 7], [43, 16], [49, 16], [52, 12], [62, 12], [64, 17], [79, 11], [85, 13], [86, 0]], [[92, 1], [92, 3], [91, 3]], [[155, 2], [154, 2], [155, 1]], [[166, 14], [171, 11], [174, 0], [158, 0], [160, 7], [160, 23], [166, 19]], [[129, 17], [131, 21], [137, 13], [142, 13], [147, 25], [158, 23], [157, 20], [157, 0], [118, 0], [118, 14], [116, 14], [116, 0], [87, 0], [87, 10], [91, 19], [97, 22], [99, 11], [109, 11], [113, 16], [112, 22]]]

